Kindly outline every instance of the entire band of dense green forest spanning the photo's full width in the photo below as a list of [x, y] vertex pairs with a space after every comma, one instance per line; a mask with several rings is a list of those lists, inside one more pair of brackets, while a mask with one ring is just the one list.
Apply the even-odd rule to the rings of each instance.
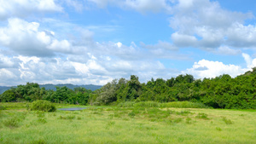
[[114, 79], [101, 89], [56, 87], [56, 90], [40, 88], [38, 84], [18, 85], [0, 95], [0, 101], [47, 100], [59, 103], [114, 105], [125, 101], [192, 101], [214, 108], [256, 108], [256, 67], [253, 71], [231, 78], [224, 74], [216, 78], [195, 79], [192, 75], [176, 78], [152, 78], [141, 84], [131, 75]]

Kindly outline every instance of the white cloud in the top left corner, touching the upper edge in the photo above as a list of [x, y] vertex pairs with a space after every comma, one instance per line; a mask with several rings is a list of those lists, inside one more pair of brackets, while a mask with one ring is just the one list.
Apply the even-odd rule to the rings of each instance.
[[9, 17], [25, 17], [33, 13], [61, 12], [63, 9], [55, 0], [0, 0], [0, 20]]

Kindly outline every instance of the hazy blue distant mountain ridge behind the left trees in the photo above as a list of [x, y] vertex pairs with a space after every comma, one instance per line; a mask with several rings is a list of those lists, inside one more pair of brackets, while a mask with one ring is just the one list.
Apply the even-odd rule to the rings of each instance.
[[[40, 88], [45, 88], [45, 89], [53, 89], [53, 90], [56, 90], [55, 86], [58, 86], [58, 87], [64, 87], [64, 86], [67, 86], [67, 88], [69, 89], [74, 89], [74, 88], [77, 88], [77, 87], [82, 87], [82, 88], [85, 88], [85, 89], [90, 89], [92, 91], [96, 90], [96, 89], [101, 89], [102, 86], [101, 85], [93, 85], [93, 84], [86, 84], [86, 85], [73, 85], [73, 84], [40, 84], [39, 85]], [[16, 86], [14, 86], [16, 87]], [[5, 90], [8, 90], [10, 89], [11, 87], [7, 87], [7, 86], [0, 86], [0, 95], [3, 94], [3, 92]]]

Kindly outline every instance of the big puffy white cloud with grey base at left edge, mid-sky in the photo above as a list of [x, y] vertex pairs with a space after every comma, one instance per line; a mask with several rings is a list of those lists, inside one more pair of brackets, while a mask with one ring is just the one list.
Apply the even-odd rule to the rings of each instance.
[[53, 55], [45, 47], [50, 37], [45, 32], [38, 32], [39, 24], [20, 19], [9, 19], [7, 27], [0, 27], [0, 44], [21, 55]]

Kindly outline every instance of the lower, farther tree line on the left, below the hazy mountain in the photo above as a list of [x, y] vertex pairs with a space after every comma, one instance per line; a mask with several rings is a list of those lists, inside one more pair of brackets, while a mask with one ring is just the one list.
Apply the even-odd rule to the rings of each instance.
[[0, 95], [2, 102], [21, 102], [21, 101], [37, 101], [47, 100], [55, 103], [69, 103], [86, 105], [88, 103], [90, 89], [77, 87], [68, 89], [67, 86], [55, 87], [53, 89], [40, 88], [37, 83], [26, 83], [26, 85], [18, 85], [16, 88], [12, 87]]

